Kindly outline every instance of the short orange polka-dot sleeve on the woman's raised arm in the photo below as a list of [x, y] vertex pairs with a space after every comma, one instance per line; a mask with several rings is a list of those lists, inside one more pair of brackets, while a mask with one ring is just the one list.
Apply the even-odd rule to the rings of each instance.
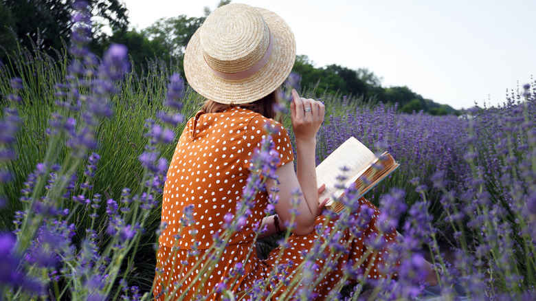
[[249, 121], [244, 134], [244, 167], [251, 166], [251, 158], [254, 153], [260, 150], [260, 144], [267, 135], [265, 124], [269, 123], [271, 131], [271, 140], [273, 141], [273, 150], [279, 155], [279, 162], [276, 167], [283, 166], [294, 160], [292, 152], [291, 140], [289, 133], [284, 129], [284, 126], [275, 120], [265, 118], [263, 115], [256, 115]]

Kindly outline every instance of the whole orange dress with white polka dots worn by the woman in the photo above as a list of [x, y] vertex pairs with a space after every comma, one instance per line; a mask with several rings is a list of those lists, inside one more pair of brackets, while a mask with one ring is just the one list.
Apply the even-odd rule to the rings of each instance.
[[[224, 216], [234, 214], [236, 203], [241, 199], [243, 188], [249, 176], [250, 159], [265, 137], [263, 126], [279, 129], [272, 135], [274, 148], [280, 155], [278, 166], [292, 164], [291, 141], [284, 127], [263, 115], [241, 107], [232, 107], [222, 113], [199, 111], [186, 124], [173, 155], [162, 200], [161, 221], [166, 225], [159, 237], [157, 251], [157, 273], [154, 280], [154, 295], [157, 300], [223, 300], [226, 291], [234, 298], [252, 293], [254, 287], [263, 282], [272, 271], [278, 277], [271, 277], [271, 283], [261, 291], [270, 294], [271, 300], [280, 298], [287, 291], [285, 275], [292, 275], [306, 258], [307, 252], [317, 241], [328, 234], [335, 220], [326, 216], [317, 217], [317, 224], [327, 223], [326, 233], [318, 235], [291, 235], [287, 247], [273, 249], [268, 258], [260, 259], [256, 254], [254, 237], [256, 227], [265, 217], [268, 195], [260, 191], [254, 199], [254, 206], [241, 230], [233, 233], [225, 249], [217, 254], [211, 251], [214, 237], [221, 234], [225, 224]], [[369, 225], [375, 225], [379, 212], [374, 205], [361, 198], [361, 203], [375, 210]], [[186, 210], [187, 206], [190, 206]], [[189, 219], [191, 217], [192, 219]], [[184, 223], [184, 221], [188, 222]], [[367, 226], [368, 227], [368, 226]], [[313, 273], [324, 265], [330, 265], [328, 274], [314, 288], [317, 300], [325, 300], [328, 293], [342, 277], [342, 270], [349, 262], [363, 257], [364, 239], [375, 232], [373, 227], [357, 238], [350, 231], [337, 233], [339, 243], [347, 249], [339, 252], [335, 259], [328, 254], [315, 260]], [[396, 232], [386, 234], [392, 241]], [[281, 252], [282, 251], [282, 252]], [[374, 268], [375, 261], [381, 260], [385, 251], [363, 260], [362, 266], [372, 264], [368, 277], [377, 278], [381, 274]], [[280, 267], [284, 267], [282, 272]], [[247, 300], [248, 298], [245, 298]]]

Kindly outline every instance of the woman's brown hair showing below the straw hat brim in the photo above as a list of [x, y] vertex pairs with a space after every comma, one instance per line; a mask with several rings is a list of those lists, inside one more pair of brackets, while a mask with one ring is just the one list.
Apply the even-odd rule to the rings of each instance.
[[[280, 103], [279, 94], [280, 89], [278, 88], [267, 96], [260, 98], [260, 100], [255, 100], [254, 102], [249, 102], [247, 104], [221, 104], [212, 100], [206, 100], [203, 104], [203, 111], [206, 113], [220, 113], [231, 107], [242, 107], [259, 113], [266, 118], [273, 119], [276, 118], [276, 110], [274, 109], [274, 106]], [[281, 122], [282, 120], [278, 121]]]

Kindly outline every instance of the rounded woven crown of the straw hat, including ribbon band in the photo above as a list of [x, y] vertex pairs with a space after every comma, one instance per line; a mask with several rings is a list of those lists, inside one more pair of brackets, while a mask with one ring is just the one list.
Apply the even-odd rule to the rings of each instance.
[[249, 5], [228, 4], [201, 26], [201, 47], [214, 70], [233, 74], [249, 69], [265, 56], [270, 32], [263, 16]]

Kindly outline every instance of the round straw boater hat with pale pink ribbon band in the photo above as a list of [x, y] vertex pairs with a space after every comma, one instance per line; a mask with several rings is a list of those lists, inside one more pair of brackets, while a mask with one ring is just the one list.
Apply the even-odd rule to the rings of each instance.
[[222, 104], [267, 96], [289, 76], [296, 57], [292, 31], [277, 14], [231, 3], [214, 10], [184, 54], [192, 88]]

